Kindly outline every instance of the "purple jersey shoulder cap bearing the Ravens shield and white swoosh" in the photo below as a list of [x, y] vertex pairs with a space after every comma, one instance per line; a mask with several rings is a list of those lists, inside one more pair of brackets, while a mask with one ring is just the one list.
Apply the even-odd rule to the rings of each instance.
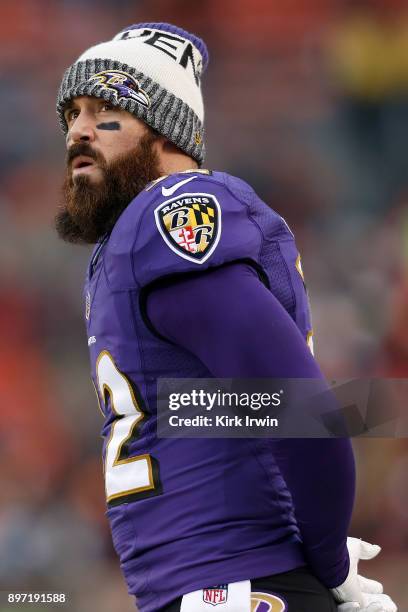
[[112, 286], [130, 288], [237, 260], [261, 264], [263, 240], [288, 233], [245, 181], [224, 172], [180, 172], [148, 185], [124, 210], [105, 269]]

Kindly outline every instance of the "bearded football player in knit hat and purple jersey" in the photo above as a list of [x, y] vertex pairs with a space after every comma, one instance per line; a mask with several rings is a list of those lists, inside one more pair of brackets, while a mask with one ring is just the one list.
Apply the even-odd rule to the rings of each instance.
[[348, 439], [157, 436], [159, 378], [322, 377], [293, 234], [245, 182], [202, 168], [207, 64], [197, 36], [136, 24], [83, 53], [58, 95], [56, 226], [96, 245], [85, 318], [129, 593], [141, 612], [393, 612], [357, 576], [379, 547], [347, 541]]

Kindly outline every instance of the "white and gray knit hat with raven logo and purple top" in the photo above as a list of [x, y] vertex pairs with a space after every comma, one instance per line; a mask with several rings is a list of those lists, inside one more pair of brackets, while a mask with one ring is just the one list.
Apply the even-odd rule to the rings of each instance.
[[65, 71], [57, 114], [64, 133], [66, 103], [96, 96], [133, 113], [193, 157], [204, 161], [201, 75], [205, 43], [168, 23], [138, 23], [91, 47]]

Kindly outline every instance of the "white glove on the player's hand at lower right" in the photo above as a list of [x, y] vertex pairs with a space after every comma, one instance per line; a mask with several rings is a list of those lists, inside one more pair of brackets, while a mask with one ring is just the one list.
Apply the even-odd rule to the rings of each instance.
[[342, 604], [338, 612], [397, 612], [397, 606], [383, 594], [383, 586], [376, 580], [359, 576], [358, 562], [374, 559], [381, 551], [377, 544], [369, 544], [357, 538], [347, 538], [347, 548], [350, 556], [350, 569], [343, 584], [330, 589], [335, 600]]

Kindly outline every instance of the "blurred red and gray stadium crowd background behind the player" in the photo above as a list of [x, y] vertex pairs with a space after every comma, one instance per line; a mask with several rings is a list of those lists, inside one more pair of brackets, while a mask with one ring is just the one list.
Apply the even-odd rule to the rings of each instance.
[[[89, 252], [52, 228], [54, 101], [84, 49], [151, 20], [209, 45], [206, 166], [249, 181], [295, 230], [325, 373], [408, 378], [405, 1], [2, 0], [0, 590], [68, 591], [75, 612], [134, 607], [104, 518]], [[408, 442], [355, 450], [352, 535], [383, 546], [370, 574], [407, 612]]]

